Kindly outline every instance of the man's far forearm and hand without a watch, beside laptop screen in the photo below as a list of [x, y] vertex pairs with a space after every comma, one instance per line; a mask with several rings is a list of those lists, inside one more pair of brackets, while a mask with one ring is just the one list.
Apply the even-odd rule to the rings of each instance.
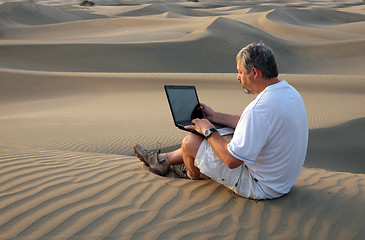
[[204, 103], [200, 103], [203, 109], [204, 117], [211, 122], [223, 124], [225, 126], [236, 128], [238, 121], [240, 120], [239, 115], [231, 115], [226, 113], [219, 113], [208, 107]]

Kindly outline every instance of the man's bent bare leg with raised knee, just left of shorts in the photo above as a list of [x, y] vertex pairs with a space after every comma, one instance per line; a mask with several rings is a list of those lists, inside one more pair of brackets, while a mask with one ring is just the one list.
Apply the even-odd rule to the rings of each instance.
[[191, 133], [184, 138], [181, 145], [185, 166], [187, 167], [190, 176], [194, 179], [200, 178], [200, 170], [195, 167], [194, 160], [203, 140], [203, 137]]

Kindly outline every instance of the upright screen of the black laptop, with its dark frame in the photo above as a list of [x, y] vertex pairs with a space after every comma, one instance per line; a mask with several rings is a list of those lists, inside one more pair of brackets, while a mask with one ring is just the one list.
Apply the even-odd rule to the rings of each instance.
[[194, 86], [166, 85], [165, 91], [175, 124], [188, 125], [192, 119], [203, 118]]

